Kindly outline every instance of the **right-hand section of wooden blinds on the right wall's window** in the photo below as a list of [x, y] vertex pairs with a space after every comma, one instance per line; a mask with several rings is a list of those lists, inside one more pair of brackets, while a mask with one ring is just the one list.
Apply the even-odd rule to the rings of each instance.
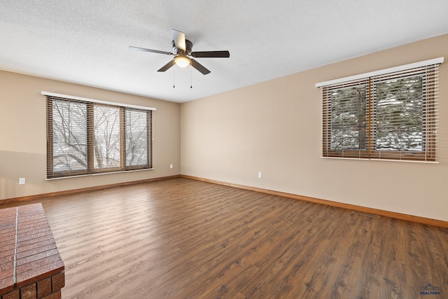
[[372, 77], [370, 158], [437, 160], [438, 64]]

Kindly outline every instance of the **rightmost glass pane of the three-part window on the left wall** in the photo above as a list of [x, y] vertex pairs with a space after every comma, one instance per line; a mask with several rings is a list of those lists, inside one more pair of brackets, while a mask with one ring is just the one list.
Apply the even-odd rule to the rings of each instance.
[[126, 166], [148, 165], [147, 111], [126, 109]]

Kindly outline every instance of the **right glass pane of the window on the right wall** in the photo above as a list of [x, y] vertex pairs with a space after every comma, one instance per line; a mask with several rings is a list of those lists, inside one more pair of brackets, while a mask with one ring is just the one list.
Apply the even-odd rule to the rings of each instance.
[[422, 77], [388, 80], [374, 88], [375, 149], [423, 151]]

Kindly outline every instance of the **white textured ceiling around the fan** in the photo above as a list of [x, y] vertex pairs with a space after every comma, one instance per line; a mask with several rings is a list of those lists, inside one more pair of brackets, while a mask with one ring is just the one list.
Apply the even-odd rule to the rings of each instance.
[[[0, 69], [186, 102], [448, 33], [447, 0], [0, 0]], [[157, 70], [171, 29], [211, 74]], [[193, 88], [190, 83], [193, 81]], [[173, 88], [173, 83], [176, 88]], [[85, 95], [86, 97], [88, 95]]]

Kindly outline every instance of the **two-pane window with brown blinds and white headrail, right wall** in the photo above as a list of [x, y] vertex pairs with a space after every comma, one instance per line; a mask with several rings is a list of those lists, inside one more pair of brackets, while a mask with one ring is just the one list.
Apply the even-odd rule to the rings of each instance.
[[436, 161], [442, 62], [316, 84], [322, 90], [323, 157]]

